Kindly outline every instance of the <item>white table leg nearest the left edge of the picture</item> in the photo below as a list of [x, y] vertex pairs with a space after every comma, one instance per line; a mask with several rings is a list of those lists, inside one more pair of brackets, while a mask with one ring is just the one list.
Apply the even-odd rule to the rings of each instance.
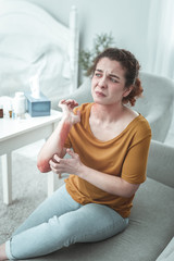
[[2, 187], [3, 187], [3, 202], [5, 204], [12, 203], [12, 156], [11, 152], [3, 154], [2, 160]]

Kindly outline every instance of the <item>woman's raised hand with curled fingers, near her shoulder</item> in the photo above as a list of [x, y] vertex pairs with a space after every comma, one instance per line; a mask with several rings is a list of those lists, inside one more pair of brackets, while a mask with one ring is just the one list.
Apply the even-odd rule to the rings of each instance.
[[77, 107], [78, 103], [75, 100], [61, 100], [59, 102], [59, 107], [62, 109], [63, 117], [70, 121], [71, 124], [75, 124], [80, 122], [80, 112], [77, 111], [75, 115], [73, 109]]

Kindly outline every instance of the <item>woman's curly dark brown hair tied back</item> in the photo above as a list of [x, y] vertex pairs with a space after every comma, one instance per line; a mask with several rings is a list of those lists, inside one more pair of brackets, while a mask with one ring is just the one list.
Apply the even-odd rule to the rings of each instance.
[[119, 48], [108, 48], [103, 52], [99, 53], [94, 61], [94, 65], [89, 69], [88, 75], [94, 75], [98, 62], [102, 58], [109, 58], [111, 61], [120, 62], [120, 64], [125, 69], [125, 88], [133, 87], [128, 96], [124, 97], [123, 103], [130, 103], [135, 105], [136, 99], [141, 97], [144, 91], [141, 82], [139, 79], [139, 62], [136, 60], [134, 54], [127, 50]]

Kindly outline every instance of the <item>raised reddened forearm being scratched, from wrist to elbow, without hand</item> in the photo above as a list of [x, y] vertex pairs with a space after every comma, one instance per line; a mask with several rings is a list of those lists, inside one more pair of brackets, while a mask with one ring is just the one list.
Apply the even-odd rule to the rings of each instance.
[[62, 119], [59, 122], [57, 128], [48, 138], [38, 154], [37, 166], [40, 172], [49, 172], [51, 170], [49, 161], [54, 154], [58, 154], [59, 157], [64, 156], [64, 142], [71, 130], [72, 125], [73, 124], [71, 124], [70, 121], [67, 121], [66, 119]]

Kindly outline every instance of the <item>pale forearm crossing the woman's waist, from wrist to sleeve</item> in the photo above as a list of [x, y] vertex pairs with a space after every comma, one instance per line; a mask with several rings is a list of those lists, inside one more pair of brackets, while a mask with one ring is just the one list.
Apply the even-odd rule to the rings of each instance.
[[94, 186], [112, 195], [129, 198], [138, 189], [138, 184], [129, 184], [122, 177], [92, 170], [86, 165], [80, 167], [78, 176]]

